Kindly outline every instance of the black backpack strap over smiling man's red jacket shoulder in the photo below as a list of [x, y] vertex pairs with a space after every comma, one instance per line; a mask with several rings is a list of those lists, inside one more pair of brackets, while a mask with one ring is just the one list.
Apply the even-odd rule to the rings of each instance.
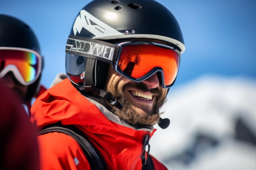
[[76, 142], [82, 148], [85, 157], [90, 163], [91, 170], [108, 170], [104, 159], [101, 154], [95, 148], [95, 146], [89, 141], [89, 139], [84, 135], [84, 133], [73, 125], [62, 125], [57, 122], [50, 126], [45, 127], [41, 130], [38, 135], [44, 135], [49, 132], [59, 132], [71, 136], [76, 140]]

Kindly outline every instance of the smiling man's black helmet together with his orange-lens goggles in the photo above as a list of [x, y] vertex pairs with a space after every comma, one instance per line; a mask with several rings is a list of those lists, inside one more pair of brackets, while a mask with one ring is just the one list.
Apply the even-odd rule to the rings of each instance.
[[112, 64], [135, 82], [157, 73], [161, 86], [169, 88], [184, 51], [180, 25], [159, 2], [92, 0], [78, 13], [70, 31], [66, 73], [78, 89], [103, 89]]

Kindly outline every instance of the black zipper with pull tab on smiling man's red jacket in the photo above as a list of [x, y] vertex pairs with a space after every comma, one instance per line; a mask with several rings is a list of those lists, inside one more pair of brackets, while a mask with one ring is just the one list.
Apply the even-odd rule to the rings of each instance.
[[[150, 145], [149, 145], [149, 139], [150, 139], [150, 135], [146, 134], [144, 136], [143, 139], [143, 147], [142, 147], [142, 152], [141, 154], [139, 154], [137, 156], [137, 158], [135, 159], [135, 161], [133, 161], [132, 166], [131, 166], [131, 170], [135, 170], [135, 165], [137, 164], [137, 162], [141, 159], [142, 160], [142, 164], [146, 164], [147, 159], [148, 159], [148, 155], [149, 155], [149, 150], [150, 150]], [[146, 147], [148, 146], [148, 150], [146, 150]], [[146, 152], [147, 151], [147, 152]], [[146, 156], [147, 153], [147, 156]]]

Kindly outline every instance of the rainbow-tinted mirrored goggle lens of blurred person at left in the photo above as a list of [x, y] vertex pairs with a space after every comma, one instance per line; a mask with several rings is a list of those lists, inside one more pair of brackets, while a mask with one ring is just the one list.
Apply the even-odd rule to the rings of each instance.
[[0, 50], [0, 73], [9, 65], [14, 65], [26, 83], [38, 75], [39, 64], [36, 54], [20, 50]]

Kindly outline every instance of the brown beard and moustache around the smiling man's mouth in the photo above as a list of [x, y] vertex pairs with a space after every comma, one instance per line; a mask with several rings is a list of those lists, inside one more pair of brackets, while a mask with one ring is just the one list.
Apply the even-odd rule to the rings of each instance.
[[[117, 83], [118, 84], [118, 83]], [[132, 103], [126, 99], [124, 96], [124, 89], [129, 87], [135, 87], [140, 89], [141, 91], [150, 91], [155, 94], [156, 103], [153, 107], [152, 111], [145, 111], [136, 108], [132, 105]], [[144, 126], [152, 126], [157, 124], [160, 119], [159, 110], [166, 102], [166, 94], [162, 94], [163, 92], [159, 88], [148, 89], [144, 83], [128, 83], [125, 84], [122, 88], [122, 91], [119, 91], [116, 86], [108, 86], [107, 92], [111, 93], [113, 97], [115, 97], [120, 104], [123, 105], [122, 109], [119, 109], [115, 106], [110, 105], [110, 110], [112, 113], [117, 115], [120, 119], [126, 121], [132, 125], [144, 125]]]

